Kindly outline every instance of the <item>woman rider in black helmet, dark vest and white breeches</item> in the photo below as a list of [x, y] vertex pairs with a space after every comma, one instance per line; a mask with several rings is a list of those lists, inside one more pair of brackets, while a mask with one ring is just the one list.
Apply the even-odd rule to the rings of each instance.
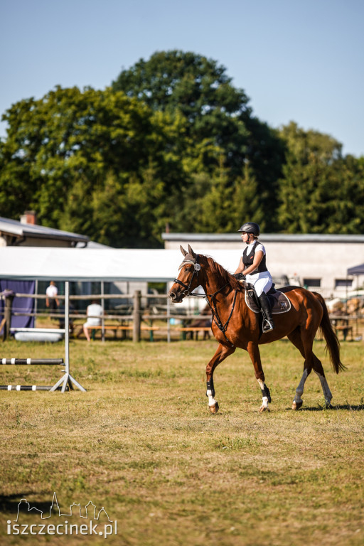
[[265, 248], [258, 241], [260, 234], [259, 225], [254, 222], [243, 224], [240, 230], [243, 242], [248, 246], [245, 248], [240, 258], [239, 266], [235, 271], [235, 277], [241, 277], [241, 274], [247, 279], [247, 282], [253, 284], [257, 293], [259, 304], [265, 315], [263, 331], [273, 330], [272, 311], [269, 305], [267, 292], [271, 289], [273, 281], [265, 264]]

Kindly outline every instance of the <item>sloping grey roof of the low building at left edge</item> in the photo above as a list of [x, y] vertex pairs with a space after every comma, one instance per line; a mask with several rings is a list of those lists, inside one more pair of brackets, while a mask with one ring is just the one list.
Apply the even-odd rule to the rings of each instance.
[[0, 217], [0, 235], [12, 235], [14, 237], [34, 237], [39, 239], [54, 239], [63, 240], [74, 243], [83, 242], [87, 245], [89, 237], [71, 233], [68, 231], [55, 230], [55, 228], [47, 228], [38, 224], [26, 224], [18, 222], [18, 220], [10, 220], [9, 218]]

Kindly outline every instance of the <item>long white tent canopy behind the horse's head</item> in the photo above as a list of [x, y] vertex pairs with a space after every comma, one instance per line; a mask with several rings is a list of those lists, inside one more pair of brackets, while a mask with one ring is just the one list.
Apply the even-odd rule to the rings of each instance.
[[[210, 254], [198, 248], [193, 250]], [[213, 250], [213, 258], [234, 272], [240, 255], [236, 250]], [[182, 260], [179, 250], [1, 247], [0, 278], [170, 282], [177, 277]]]

